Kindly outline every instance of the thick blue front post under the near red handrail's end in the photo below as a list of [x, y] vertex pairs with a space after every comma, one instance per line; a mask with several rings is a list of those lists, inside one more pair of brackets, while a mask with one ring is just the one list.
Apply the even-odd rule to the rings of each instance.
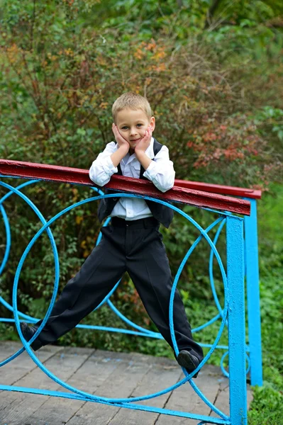
[[243, 218], [226, 220], [230, 416], [231, 424], [246, 425]]

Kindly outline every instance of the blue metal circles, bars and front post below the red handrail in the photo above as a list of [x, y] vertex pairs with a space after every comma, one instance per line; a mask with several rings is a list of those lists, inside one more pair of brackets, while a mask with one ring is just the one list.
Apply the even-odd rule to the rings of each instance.
[[[24, 251], [21, 260], [18, 263], [18, 268], [16, 270], [16, 276], [13, 284], [13, 305], [9, 305], [2, 297], [0, 297], [0, 302], [10, 311], [13, 311], [14, 319], [1, 319], [2, 322], [15, 322], [16, 328], [18, 330], [18, 334], [21, 338], [21, 341], [23, 343], [23, 347], [18, 350], [16, 353], [14, 353], [12, 356], [7, 358], [5, 361], [2, 361], [0, 363], [1, 365], [4, 365], [6, 363], [9, 363], [14, 358], [16, 358], [19, 354], [21, 354], [25, 349], [28, 351], [30, 357], [33, 359], [33, 361], [38, 365], [39, 368], [41, 368], [50, 378], [55, 380], [55, 382], [62, 385], [62, 387], [65, 387], [67, 390], [70, 390], [73, 392], [73, 394], [70, 394], [68, 392], [52, 392], [48, 390], [37, 390], [35, 388], [23, 388], [23, 387], [13, 387], [13, 386], [7, 386], [7, 385], [0, 385], [0, 390], [12, 390], [12, 391], [23, 391], [23, 392], [32, 392], [35, 394], [45, 394], [45, 395], [55, 395], [60, 397], [67, 397], [67, 398], [75, 398], [75, 399], [83, 399], [86, 401], [92, 401], [92, 402], [101, 402], [104, 404], [111, 404], [116, 405], [119, 407], [128, 407], [131, 409], [142, 409], [142, 410], [148, 410], [150, 412], [158, 412], [158, 413], [165, 413], [165, 414], [173, 414], [176, 416], [184, 416], [191, 419], [198, 419], [201, 421], [201, 423], [214, 423], [214, 424], [233, 424], [233, 425], [240, 425], [240, 424], [247, 424], [247, 403], [246, 403], [246, 372], [245, 370], [245, 361], [246, 361], [246, 352], [250, 351], [250, 364], [252, 365], [252, 371], [253, 371], [253, 363], [252, 361], [255, 361], [258, 367], [260, 367], [261, 370], [261, 358], [260, 361], [257, 356], [255, 356], [255, 349], [256, 346], [259, 344], [258, 337], [255, 338], [253, 336], [253, 332], [250, 332], [250, 341], [253, 341], [253, 344], [250, 344], [250, 348], [248, 348], [245, 345], [245, 289], [244, 289], [244, 244], [245, 244], [245, 266], [247, 269], [247, 276], [249, 276], [248, 273], [250, 273], [251, 265], [253, 266], [253, 269], [256, 268], [255, 264], [255, 253], [253, 252], [253, 256], [247, 257], [247, 253], [250, 252], [250, 243], [247, 243], [246, 239], [247, 237], [250, 237], [250, 239], [254, 239], [254, 229], [252, 236], [247, 231], [247, 227], [249, 227], [249, 221], [246, 221], [246, 218], [243, 219], [241, 217], [236, 217], [228, 212], [218, 212], [219, 217], [214, 220], [209, 227], [206, 229], [203, 229], [195, 220], [192, 219], [192, 217], [189, 217], [186, 213], [184, 213], [179, 208], [175, 207], [172, 204], [166, 203], [162, 200], [157, 200], [153, 198], [149, 198], [147, 196], [142, 196], [144, 199], [153, 200], [157, 203], [161, 203], [163, 205], [167, 205], [168, 207], [172, 208], [174, 211], [178, 212], [180, 215], [185, 217], [189, 222], [196, 227], [199, 231], [199, 237], [196, 239], [194, 244], [190, 247], [190, 249], [187, 251], [187, 254], [184, 256], [184, 259], [182, 260], [182, 263], [179, 266], [179, 269], [177, 271], [177, 274], [174, 278], [174, 283], [172, 286], [172, 294], [170, 298], [170, 331], [174, 346], [175, 354], [178, 354], [178, 348], [174, 336], [174, 322], [173, 322], [173, 300], [174, 300], [174, 293], [177, 288], [177, 283], [179, 280], [180, 273], [182, 273], [182, 269], [184, 268], [184, 265], [188, 261], [189, 257], [191, 256], [192, 252], [196, 248], [196, 246], [199, 244], [201, 239], [204, 239], [210, 246], [211, 249], [211, 256], [209, 259], [209, 274], [211, 278], [211, 290], [213, 293], [214, 300], [216, 302], [216, 307], [218, 309], [218, 314], [216, 314], [215, 317], [213, 317], [209, 322], [206, 322], [205, 324], [202, 324], [201, 326], [197, 327], [196, 329], [193, 329], [194, 332], [199, 331], [203, 329], [204, 327], [209, 326], [213, 322], [216, 322], [216, 320], [220, 320], [220, 326], [218, 330], [218, 334], [216, 336], [215, 341], [213, 344], [200, 344], [202, 346], [209, 347], [209, 352], [206, 354], [204, 360], [201, 362], [201, 364], [196, 368], [196, 372], [208, 361], [209, 357], [211, 356], [211, 353], [216, 348], [222, 348], [228, 350], [228, 352], [223, 354], [223, 358], [221, 359], [221, 368], [223, 368], [223, 360], [226, 358], [227, 354], [229, 355], [229, 374], [224, 370], [223, 373], [225, 373], [229, 377], [230, 382], [230, 402], [231, 402], [231, 414], [230, 416], [227, 416], [221, 410], [219, 410], [217, 407], [213, 405], [213, 403], [207, 399], [204, 394], [199, 390], [199, 388], [192, 382], [192, 374], [189, 375], [186, 370], [184, 370], [184, 379], [178, 382], [175, 385], [172, 385], [170, 387], [167, 387], [165, 390], [162, 390], [160, 392], [145, 395], [143, 397], [134, 397], [131, 399], [110, 399], [108, 397], [98, 397], [95, 395], [91, 395], [87, 392], [83, 392], [80, 390], [77, 390], [77, 388], [72, 387], [68, 385], [66, 382], [63, 382], [60, 380], [60, 378], [57, 378], [55, 375], [53, 375], [45, 366], [38, 360], [38, 358], [35, 356], [33, 351], [30, 348], [30, 344], [33, 342], [33, 340], [38, 336], [41, 329], [45, 326], [45, 323], [48, 320], [48, 317], [50, 316], [50, 313], [52, 311], [52, 307], [55, 304], [55, 299], [57, 295], [58, 290], [58, 284], [59, 284], [59, 276], [60, 276], [60, 264], [59, 259], [57, 255], [57, 248], [55, 245], [54, 237], [52, 236], [52, 232], [50, 229], [50, 226], [57, 220], [59, 217], [62, 217], [62, 215], [65, 215], [70, 210], [79, 207], [79, 205], [83, 205], [88, 202], [92, 202], [94, 200], [100, 200], [101, 198], [111, 198], [113, 196], [115, 197], [133, 197], [133, 195], [128, 193], [115, 193], [113, 195], [107, 195], [104, 196], [104, 194], [99, 191], [97, 188], [93, 188], [94, 191], [98, 192], [98, 196], [94, 196], [91, 198], [88, 198], [86, 200], [81, 200], [78, 203], [75, 203], [74, 205], [70, 205], [70, 207], [65, 208], [65, 210], [62, 210], [57, 215], [52, 217], [48, 222], [46, 222], [45, 218], [41, 214], [41, 212], [38, 210], [38, 208], [34, 205], [34, 203], [27, 198], [23, 193], [21, 193], [21, 189], [25, 186], [28, 186], [29, 184], [33, 184], [36, 181], [28, 181], [26, 183], [21, 184], [18, 186], [18, 188], [13, 188], [13, 186], [9, 185], [8, 183], [4, 183], [4, 181], [0, 181], [0, 186], [6, 188], [8, 193], [1, 198], [0, 200], [0, 208], [2, 216], [4, 217], [4, 225], [6, 229], [6, 249], [4, 253], [4, 260], [1, 264], [0, 271], [4, 270], [4, 267], [6, 266], [6, 262], [9, 258], [9, 250], [11, 246], [11, 233], [9, 228], [9, 220], [6, 215], [6, 212], [4, 210], [3, 203], [4, 201], [9, 198], [13, 193], [16, 193], [19, 197], [21, 197], [29, 206], [33, 209], [36, 215], [38, 215], [38, 218], [42, 222], [42, 227], [38, 230], [38, 232], [34, 235], [33, 239], [29, 242], [28, 246], [26, 247], [26, 250]], [[138, 196], [139, 197], [139, 196]], [[256, 212], [253, 212], [256, 214]], [[249, 217], [248, 217], [249, 218]], [[254, 216], [250, 217], [250, 220], [253, 220]], [[104, 225], [107, 225], [109, 220], [106, 220]], [[245, 223], [245, 242], [243, 238], [243, 226]], [[221, 256], [218, 254], [218, 251], [216, 249], [216, 242], [218, 240], [218, 236], [223, 229], [223, 226], [226, 224], [226, 250], [227, 250], [227, 272], [224, 269], [223, 263], [221, 261]], [[209, 237], [209, 232], [213, 227], [218, 227], [218, 230], [216, 232], [216, 236], [214, 237], [214, 240], [212, 241]], [[249, 228], [250, 230], [250, 228]], [[23, 335], [21, 333], [21, 328], [19, 326], [20, 321], [25, 319], [26, 322], [34, 323], [38, 322], [38, 318], [30, 317], [27, 314], [23, 314], [21, 312], [18, 312], [17, 309], [17, 288], [18, 288], [18, 279], [21, 274], [21, 268], [23, 267], [23, 263], [26, 260], [26, 256], [28, 255], [28, 252], [32, 248], [33, 244], [35, 244], [38, 237], [40, 237], [43, 232], [47, 232], [48, 237], [50, 239], [50, 244], [52, 246], [52, 251], [54, 255], [54, 261], [55, 261], [55, 283], [54, 283], [54, 289], [52, 293], [52, 297], [50, 300], [50, 305], [48, 307], [48, 311], [45, 314], [45, 317], [43, 319], [42, 324], [38, 328], [38, 331], [33, 336], [33, 338], [30, 341], [26, 341], [23, 339]], [[96, 243], [99, 243], [101, 239], [101, 234], [99, 234], [99, 238]], [[213, 258], [216, 258], [216, 261], [218, 262], [218, 266], [221, 271], [221, 276], [223, 280], [223, 290], [224, 290], [224, 305], [221, 307], [220, 302], [218, 301], [218, 297], [216, 294], [216, 290], [214, 287], [213, 282]], [[248, 260], [247, 260], [248, 258]], [[253, 261], [251, 261], [251, 259]], [[257, 275], [258, 276], [258, 275]], [[255, 279], [253, 280], [255, 282]], [[119, 282], [118, 282], [119, 283]], [[110, 297], [113, 294], [113, 292], [116, 290], [118, 283], [115, 285], [113, 290], [111, 290], [111, 293], [107, 295], [104, 300], [101, 302], [101, 304], [96, 307], [99, 308], [101, 305], [103, 305], [105, 302], [108, 303], [109, 307], [115, 312], [118, 317], [120, 317], [126, 324], [130, 325], [135, 329], [135, 331], [131, 331], [129, 329], [117, 329], [117, 328], [109, 328], [109, 327], [99, 327], [99, 326], [91, 326], [91, 325], [82, 325], [79, 324], [77, 327], [82, 328], [88, 328], [88, 329], [99, 329], [99, 330], [107, 330], [107, 331], [121, 331], [123, 333], [127, 334], [136, 334], [140, 336], [148, 336], [151, 338], [158, 338], [162, 339], [162, 336], [158, 332], [153, 332], [148, 329], [145, 329], [143, 327], [138, 326], [137, 324], [133, 323], [131, 320], [127, 319], [121, 312], [119, 312], [116, 307], [112, 304], [110, 301]], [[254, 297], [252, 296], [252, 286], [248, 285], [248, 297], [251, 297], [253, 299], [253, 305], [249, 307], [253, 309], [252, 311], [257, 308], [256, 303], [254, 302]], [[257, 294], [258, 295], [258, 294]], [[259, 311], [258, 311], [259, 313]], [[253, 314], [250, 314], [250, 311], [248, 311], [249, 315], [249, 327], [250, 329], [253, 329], [252, 324], [250, 325], [250, 322], [253, 320]], [[21, 317], [21, 319], [20, 319]], [[252, 322], [251, 322], [252, 323]], [[221, 338], [221, 334], [223, 333], [224, 327], [226, 327], [226, 324], [228, 324], [228, 346], [221, 346], [218, 345], [218, 341]], [[253, 357], [252, 357], [252, 349], [253, 349]], [[256, 358], [255, 358], [256, 357]], [[194, 374], [194, 373], [193, 373]], [[257, 379], [259, 375], [257, 375]], [[180, 385], [184, 385], [185, 382], [189, 382], [190, 385], [194, 388], [196, 393], [201, 397], [201, 399], [204, 400], [204, 402], [215, 412], [219, 417], [218, 418], [212, 418], [211, 416], [203, 416], [201, 414], [191, 414], [186, 412], [172, 412], [168, 409], [157, 409], [154, 407], [146, 407], [141, 404], [135, 404], [135, 402], [139, 402], [142, 400], [150, 399], [153, 397], [158, 397], [162, 394], [165, 394], [167, 392], [170, 392], [174, 390], [174, 388], [179, 387]]]

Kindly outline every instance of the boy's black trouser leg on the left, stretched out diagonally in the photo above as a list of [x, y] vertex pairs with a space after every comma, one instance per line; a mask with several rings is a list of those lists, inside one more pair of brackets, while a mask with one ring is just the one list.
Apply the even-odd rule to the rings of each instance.
[[[103, 227], [101, 232], [101, 242], [55, 302], [45, 327], [32, 344], [34, 349], [56, 341], [74, 328], [99, 305], [126, 271], [121, 235], [113, 234], [113, 227]], [[41, 323], [42, 320], [36, 326]]]

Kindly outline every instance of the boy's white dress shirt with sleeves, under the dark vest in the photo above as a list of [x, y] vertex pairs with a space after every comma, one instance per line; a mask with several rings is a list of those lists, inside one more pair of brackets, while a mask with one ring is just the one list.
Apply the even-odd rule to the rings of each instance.
[[[152, 159], [152, 162], [150, 162], [143, 176], [152, 181], [157, 189], [166, 192], [174, 186], [174, 166], [172, 161], [170, 161], [169, 150], [166, 146], [163, 145], [160, 152], [154, 156], [153, 142], [154, 139], [151, 137], [150, 146], [146, 149], [145, 154]], [[111, 176], [118, 172], [118, 168], [113, 166], [111, 160], [111, 154], [116, 152], [117, 149], [116, 142], [108, 143], [104, 152], [101, 152], [92, 163], [89, 169], [89, 178], [97, 186], [104, 186], [109, 182]], [[126, 154], [126, 157], [121, 160], [120, 166], [123, 176], [134, 177], [135, 179], [140, 177], [140, 162], [135, 157], [135, 154]], [[140, 218], [152, 217], [152, 212], [143, 199], [119, 198], [110, 216], [121, 217], [124, 220], [139, 220]]]

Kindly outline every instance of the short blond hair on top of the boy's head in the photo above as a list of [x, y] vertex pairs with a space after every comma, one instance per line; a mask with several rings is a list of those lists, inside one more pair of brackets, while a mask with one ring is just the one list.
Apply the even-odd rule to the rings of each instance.
[[138, 109], [140, 109], [148, 117], [148, 120], [152, 117], [152, 110], [148, 99], [140, 96], [140, 94], [133, 93], [132, 91], [122, 94], [113, 103], [112, 116], [114, 123], [116, 123], [117, 113], [122, 111], [122, 109], [133, 109], [134, 111], [138, 111]]

